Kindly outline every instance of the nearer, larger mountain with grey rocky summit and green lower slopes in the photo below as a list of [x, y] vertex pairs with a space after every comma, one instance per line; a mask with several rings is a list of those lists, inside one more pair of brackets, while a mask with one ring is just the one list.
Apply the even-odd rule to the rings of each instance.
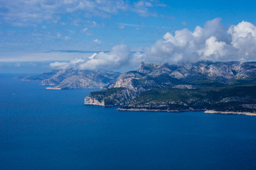
[[[248, 84], [252, 85], [248, 87]], [[236, 98], [234, 99], [236, 104], [246, 106], [247, 110], [255, 112], [256, 95], [250, 94], [250, 90], [256, 90], [253, 84], [256, 84], [256, 62], [197, 62], [182, 65], [142, 62], [136, 71], [119, 75], [107, 90], [89, 94], [85, 98], [85, 104], [124, 105], [123, 110], [157, 108], [165, 111], [185, 111], [212, 109], [210, 106], [215, 106], [219, 110], [222, 106], [223, 110], [227, 110], [234, 103], [231, 102], [230, 105], [227, 102], [224, 102], [224, 105], [217, 103], [229, 100], [227, 98], [231, 98], [231, 101], [232, 98]], [[245, 96], [239, 96], [239, 92], [233, 93], [238, 90], [243, 91], [242, 95]], [[223, 96], [223, 93], [228, 93], [228, 96]], [[154, 98], [150, 97], [152, 94]], [[171, 98], [172, 94], [175, 94], [176, 99]], [[216, 96], [210, 94], [220, 97], [216, 99]], [[201, 102], [207, 100], [209, 102]], [[206, 107], [201, 107], [199, 103], [203, 103]], [[236, 109], [238, 110], [238, 107], [233, 110]], [[243, 107], [239, 109], [242, 110]]]

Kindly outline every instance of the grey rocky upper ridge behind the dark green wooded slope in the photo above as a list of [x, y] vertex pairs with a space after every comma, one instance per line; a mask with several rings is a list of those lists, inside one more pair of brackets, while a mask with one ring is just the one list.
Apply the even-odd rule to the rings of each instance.
[[182, 65], [142, 62], [136, 71], [121, 74], [111, 87], [124, 87], [139, 93], [159, 88], [227, 86], [239, 84], [241, 80], [254, 79], [255, 70], [256, 62], [198, 62]]

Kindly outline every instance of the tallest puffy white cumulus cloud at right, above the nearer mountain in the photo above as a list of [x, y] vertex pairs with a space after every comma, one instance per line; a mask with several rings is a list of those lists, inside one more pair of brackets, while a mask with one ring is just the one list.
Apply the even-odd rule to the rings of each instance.
[[242, 21], [225, 28], [220, 18], [196, 26], [166, 33], [154, 45], [146, 47], [142, 58], [146, 62], [197, 62], [256, 60], [256, 28]]

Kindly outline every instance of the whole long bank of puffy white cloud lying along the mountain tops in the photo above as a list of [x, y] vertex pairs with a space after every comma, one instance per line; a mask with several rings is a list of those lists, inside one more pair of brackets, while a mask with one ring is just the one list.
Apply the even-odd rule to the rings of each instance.
[[238, 25], [225, 28], [220, 18], [207, 21], [203, 27], [196, 26], [166, 33], [156, 42], [144, 47], [144, 52], [131, 52], [126, 45], [117, 45], [110, 52], [95, 53], [87, 59], [71, 62], [55, 62], [52, 67], [78, 69], [133, 69], [139, 62], [182, 62], [207, 61], [255, 61], [256, 27], [242, 21]]

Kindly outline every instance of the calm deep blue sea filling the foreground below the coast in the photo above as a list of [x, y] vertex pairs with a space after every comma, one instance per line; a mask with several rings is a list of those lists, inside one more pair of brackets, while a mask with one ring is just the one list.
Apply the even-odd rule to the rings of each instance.
[[84, 106], [0, 74], [0, 169], [256, 169], [256, 117]]

